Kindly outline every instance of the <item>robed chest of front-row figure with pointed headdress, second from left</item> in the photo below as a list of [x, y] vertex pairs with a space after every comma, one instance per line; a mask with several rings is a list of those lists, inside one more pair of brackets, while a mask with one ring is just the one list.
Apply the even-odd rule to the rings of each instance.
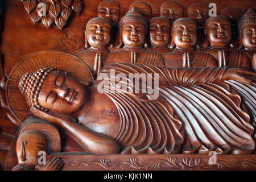
[[159, 53], [145, 48], [139, 48], [134, 51], [122, 49], [110, 52], [105, 65], [110, 63], [135, 63], [165, 67], [164, 59]]

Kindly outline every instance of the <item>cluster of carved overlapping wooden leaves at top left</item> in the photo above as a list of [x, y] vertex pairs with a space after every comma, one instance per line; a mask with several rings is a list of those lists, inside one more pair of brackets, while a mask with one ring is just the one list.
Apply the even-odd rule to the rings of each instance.
[[72, 11], [82, 11], [80, 0], [21, 0], [33, 23], [42, 22], [47, 28], [56, 24], [60, 30], [67, 23]]

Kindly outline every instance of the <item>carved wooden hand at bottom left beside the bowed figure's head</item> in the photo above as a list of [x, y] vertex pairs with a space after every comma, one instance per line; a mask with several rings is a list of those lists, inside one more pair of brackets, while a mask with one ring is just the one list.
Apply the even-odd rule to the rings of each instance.
[[35, 166], [35, 171], [59, 171], [63, 167], [64, 163], [60, 158], [53, 158], [46, 162]]

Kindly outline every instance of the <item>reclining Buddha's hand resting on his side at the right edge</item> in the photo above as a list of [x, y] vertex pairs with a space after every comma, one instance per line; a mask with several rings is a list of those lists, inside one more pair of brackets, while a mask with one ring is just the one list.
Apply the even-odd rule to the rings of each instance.
[[221, 78], [221, 81], [225, 80], [236, 80], [250, 84], [256, 81], [256, 73], [243, 68], [227, 68]]

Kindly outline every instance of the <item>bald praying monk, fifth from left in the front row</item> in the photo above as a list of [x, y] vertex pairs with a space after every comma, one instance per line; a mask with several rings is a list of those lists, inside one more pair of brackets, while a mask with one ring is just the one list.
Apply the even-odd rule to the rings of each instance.
[[209, 40], [209, 47], [202, 51], [210, 53], [221, 66], [251, 69], [251, 62], [245, 53], [229, 48], [232, 28], [228, 18], [225, 16], [210, 17], [205, 22], [205, 34]]

